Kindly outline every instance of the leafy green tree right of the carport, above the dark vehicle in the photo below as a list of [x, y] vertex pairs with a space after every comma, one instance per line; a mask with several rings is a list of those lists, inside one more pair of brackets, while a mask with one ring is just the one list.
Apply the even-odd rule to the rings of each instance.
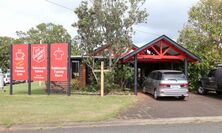
[[222, 0], [201, 0], [190, 9], [188, 23], [180, 32], [178, 42], [201, 58], [200, 63], [189, 66], [192, 83], [222, 63], [221, 12]]

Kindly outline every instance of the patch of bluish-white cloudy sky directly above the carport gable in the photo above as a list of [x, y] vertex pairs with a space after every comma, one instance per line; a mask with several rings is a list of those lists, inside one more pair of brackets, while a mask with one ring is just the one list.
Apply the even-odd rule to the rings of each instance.
[[[135, 26], [137, 31], [133, 37], [135, 44], [157, 38], [156, 35], [167, 35], [176, 40], [178, 31], [187, 22], [188, 11], [198, 0], [147, 0], [144, 7], [149, 13], [145, 24]], [[145, 44], [145, 43], [144, 43]]]

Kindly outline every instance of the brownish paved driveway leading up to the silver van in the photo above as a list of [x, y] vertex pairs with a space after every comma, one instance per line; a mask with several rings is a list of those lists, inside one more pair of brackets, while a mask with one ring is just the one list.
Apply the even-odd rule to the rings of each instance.
[[191, 93], [184, 101], [176, 98], [155, 100], [149, 94], [139, 93], [135, 106], [118, 115], [119, 119], [156, 119], [176, 117], [222, 116], [222, 96]]

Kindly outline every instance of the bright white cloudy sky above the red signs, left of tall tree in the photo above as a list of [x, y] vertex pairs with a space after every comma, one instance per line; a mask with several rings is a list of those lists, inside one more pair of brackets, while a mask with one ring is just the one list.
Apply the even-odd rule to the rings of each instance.
[[[53, 0], [65, 7], [74, 9], [80, 1]], [[16, 31], [27, 31], [40, 23], [56, 23], [63, 25], [71, 35], [76, 30], [71, 24], [77, 20], [71, 10], [55, 6], [46, 0], [1, 0], [0, 2], [0, 36], [16, 37]]]

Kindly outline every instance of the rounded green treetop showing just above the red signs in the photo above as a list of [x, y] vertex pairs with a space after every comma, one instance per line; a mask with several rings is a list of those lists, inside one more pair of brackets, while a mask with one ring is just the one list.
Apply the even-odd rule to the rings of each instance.
[[20, 42], [23, 43], [71, 43], [72, 55], [79, 54], [78, 45], [71, 40], [70, 34], [62, 25], [41, 23], [27, 32], [17, 31], [16, 33]]

